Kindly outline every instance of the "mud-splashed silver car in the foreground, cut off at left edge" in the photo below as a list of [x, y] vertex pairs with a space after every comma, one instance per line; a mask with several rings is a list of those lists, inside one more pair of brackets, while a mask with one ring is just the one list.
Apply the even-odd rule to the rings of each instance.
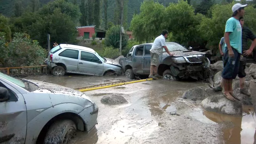
[[84, 93], [0, 73], [0, 143], [68, 143], [78, 129], [89, 132], [98, 107]]

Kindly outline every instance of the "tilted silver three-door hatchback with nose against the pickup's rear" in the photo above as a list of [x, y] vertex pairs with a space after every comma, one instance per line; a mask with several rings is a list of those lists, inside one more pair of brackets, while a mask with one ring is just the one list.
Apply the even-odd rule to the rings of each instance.
[[122, 75], [122, 66], [115, 60], [101, 57], [91, 48], [60, 44], [50, 50], [46, 60], [53, 75], [78, 73], [85, 75]]

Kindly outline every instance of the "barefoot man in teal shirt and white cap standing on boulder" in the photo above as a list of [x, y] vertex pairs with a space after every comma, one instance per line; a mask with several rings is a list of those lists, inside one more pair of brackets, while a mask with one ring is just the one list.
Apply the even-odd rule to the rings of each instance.
[[244, 7], [240, 3], [232, 7], [233, 15], [226, 22], [225, 26], [225, 52], [223, 56], [222, 84], [224, 87], [224, 96], [235, 101], [237, 99], [233, 93], [232, 83], [239, 70], [240, 55], [242, 53], [242, 27], [239, 18], [244, 16]]

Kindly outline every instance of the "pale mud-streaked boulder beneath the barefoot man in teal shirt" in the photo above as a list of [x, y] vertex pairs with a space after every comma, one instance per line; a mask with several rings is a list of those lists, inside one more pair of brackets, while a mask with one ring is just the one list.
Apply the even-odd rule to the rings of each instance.
[[222, 94], [212, 95], [201, 102], [206, 111], [218, 112], [223, 114], [241, 115], [243, 104], [241, 101], [232, 102]]

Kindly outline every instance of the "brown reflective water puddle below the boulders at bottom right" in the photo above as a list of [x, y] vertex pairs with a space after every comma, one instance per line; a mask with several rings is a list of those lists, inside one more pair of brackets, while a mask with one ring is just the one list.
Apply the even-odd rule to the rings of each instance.
[[252, 106], [244, 105], [242, 116], [230, 116], [201, 109], [190, 116], [202, 123], [219, 124], [225, 144], [254, 143], [256, 123]]

